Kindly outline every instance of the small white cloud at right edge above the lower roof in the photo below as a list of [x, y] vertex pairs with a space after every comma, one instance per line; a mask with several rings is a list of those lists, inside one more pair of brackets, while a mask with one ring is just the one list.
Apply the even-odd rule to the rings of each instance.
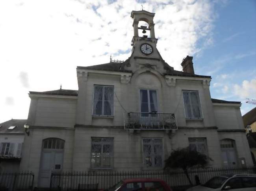
[[240, 98], [255, 99], [256, 96], [256, 79], [251, 81], [244, 80], [242, 85], [234, 85], [234, 93]]

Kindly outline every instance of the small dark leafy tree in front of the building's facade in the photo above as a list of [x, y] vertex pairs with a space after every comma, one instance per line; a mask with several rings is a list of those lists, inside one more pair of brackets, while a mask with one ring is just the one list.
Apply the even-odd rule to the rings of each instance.
[[169, 158], [165, 160], [164, 169], [181, 168], [187, 176], [189, 184], [192, 185], [192, 182], [188, 175], [188, 169], [193, 166], [205, 167], [206, 164], [208, 164], [209, 160], [212, 161], [210, 157], [197, 151], [192, 151], [189, 149], [189, 147], [186, 147], [183, 149], [176, 149], [171, 152]]

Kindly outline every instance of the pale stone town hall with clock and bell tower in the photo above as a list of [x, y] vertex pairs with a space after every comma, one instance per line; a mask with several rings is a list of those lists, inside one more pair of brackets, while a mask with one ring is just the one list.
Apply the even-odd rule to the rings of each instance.
[[127, 60], [78, 66], [78, 91], [30, 91], [20, 169], [35, 173], [35, 186], [49, 186], [59, 171], [163, 169], [172, 150], [187, 146], [210, 156], [210, 167], [252, 165], [241, 103], [212, 99], [211, 76], [194, 73], [193, 57], [184, 58], [183, 72], [163, 60], [154, 13], [131, 16]]

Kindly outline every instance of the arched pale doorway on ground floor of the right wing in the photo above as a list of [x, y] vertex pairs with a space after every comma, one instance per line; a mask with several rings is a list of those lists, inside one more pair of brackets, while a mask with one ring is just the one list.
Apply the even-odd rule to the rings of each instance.
[[221, 155], [225, 167], [238, 166], [236, 142], [234, 140], [228, 138], [221, 140]]

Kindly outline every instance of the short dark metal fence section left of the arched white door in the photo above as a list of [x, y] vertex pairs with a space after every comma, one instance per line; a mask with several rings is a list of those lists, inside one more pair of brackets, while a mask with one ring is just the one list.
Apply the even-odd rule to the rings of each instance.
[[0, 173], [0, 190], [33, 190], [32, 172]]

